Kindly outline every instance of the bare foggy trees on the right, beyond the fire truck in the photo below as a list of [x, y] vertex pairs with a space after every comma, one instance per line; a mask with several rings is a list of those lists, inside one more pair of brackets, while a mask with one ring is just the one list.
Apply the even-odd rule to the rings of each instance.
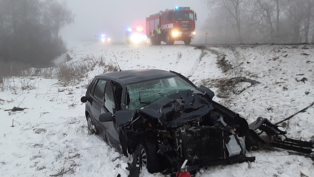
[[203, 0], [210, 43], [314, 42], [314, 0]]

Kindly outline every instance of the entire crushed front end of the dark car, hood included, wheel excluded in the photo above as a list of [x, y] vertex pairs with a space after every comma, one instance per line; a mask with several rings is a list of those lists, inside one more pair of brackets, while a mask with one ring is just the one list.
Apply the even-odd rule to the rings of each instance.
[[[185, 160], [188, 170], [254, 161], [254, 157], [245, 156], [247, 122], [213, 102], [213, 96], [208, 88], [198, 87], [167, 95], [134, 111], [129, 122], [121, 127], [125, 135], [123, 153], [127, 155], [128, 150], [133, 154], [141, 140], [153, 140], [158, 146], [157, 153], [168, 161], [173, 172]], [[118, 114], [116, 120], [125, 116]]]

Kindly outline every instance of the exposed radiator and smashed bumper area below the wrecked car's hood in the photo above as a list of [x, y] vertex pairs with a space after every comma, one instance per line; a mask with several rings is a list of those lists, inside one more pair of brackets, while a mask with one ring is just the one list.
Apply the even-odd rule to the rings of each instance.
[[[160, 135], [163, 137], [162, 134]], [[188, 171], [210, 165], [255, 161], [255, 157], [245, 156], [244, 137], [232, 134], [230, 130], [224, 127], [200, 126], [180, 128], [175, 131], [174, 139], [175, 144], [172, 146], [167, 145], [164, 143], [166, 141], [163, 140], [163, 146], [161, 147], [163, 151], [158, 152], [167, 157], [174, 172], [180, 170], [184, 160], [188, 160]]]

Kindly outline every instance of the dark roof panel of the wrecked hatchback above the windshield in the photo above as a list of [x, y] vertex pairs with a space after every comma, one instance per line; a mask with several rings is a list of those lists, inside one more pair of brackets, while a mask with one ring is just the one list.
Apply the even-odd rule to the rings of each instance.
[[176, 76], [176, 74], [170, 71], [164, 71], [159, 69], [133, 69], [100, 74], [96, 77], [110, 79], [120, 83], [121, 85], [128, 85], [146, 80], [154, 80], [158, 78], [173, 76]]

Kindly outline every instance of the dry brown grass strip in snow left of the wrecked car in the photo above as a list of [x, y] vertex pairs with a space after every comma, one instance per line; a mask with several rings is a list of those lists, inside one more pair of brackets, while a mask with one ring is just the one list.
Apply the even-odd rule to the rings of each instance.
[[[84, 79], [89, 79], [88, 72], [93, 71], [96, 66], [104, 68], [103, 73], [118, 71], [116, 64], [106, 62], [104, 55], [87, 55], [80, 62], [66, 62], [59, 66], [49, 68], [31, 68], [21, 63], [8, 63], [0, 59], [0, 90], [16, 90], [17, 85], [14, 77], [43, 77], [59, 79], [61, 85], [76, 85]], [[99, 73], [101, 74], [101, 73]], [[31, 78], [19, 78], [22, 90], [34, 89]]]

